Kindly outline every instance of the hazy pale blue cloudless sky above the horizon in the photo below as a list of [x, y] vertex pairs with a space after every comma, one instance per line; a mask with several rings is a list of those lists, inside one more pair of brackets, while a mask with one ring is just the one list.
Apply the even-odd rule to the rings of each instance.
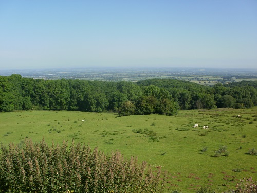
[[257, 68], [257, 1], [0, 1], [0, 69]]

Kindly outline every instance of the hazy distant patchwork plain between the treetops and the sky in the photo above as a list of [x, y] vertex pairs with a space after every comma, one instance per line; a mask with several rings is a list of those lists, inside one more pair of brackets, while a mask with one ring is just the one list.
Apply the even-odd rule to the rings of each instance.
[[[21, 74], [22, 77], [56, 80], [80, 79], [101, 81], [141, 81], [152, 78], [170, 78], [201, 85], [257, 80], [256, 69], [236, 68], [101, 68], [101, 69], [45, 69], [32, 71], [1, 71], [0, 75]], [[199, 83], [200, 82], [200, 83]], [[204, 83], [206, 82], [206, 83]]]

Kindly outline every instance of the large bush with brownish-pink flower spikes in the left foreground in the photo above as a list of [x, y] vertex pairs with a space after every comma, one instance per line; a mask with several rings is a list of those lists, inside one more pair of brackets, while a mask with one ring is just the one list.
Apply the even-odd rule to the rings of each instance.
[[161, 192], [164, 186], [160, 169], [153, 175], [136, 157], [107, 156], [80, 143], [68, 149], [65, 141], [60, 147], [25, 139], [1, 151], [0, 192]]

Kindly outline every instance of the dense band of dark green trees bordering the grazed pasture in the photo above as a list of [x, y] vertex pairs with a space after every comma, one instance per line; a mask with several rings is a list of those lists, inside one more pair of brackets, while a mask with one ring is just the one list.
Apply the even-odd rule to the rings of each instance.
[[181, 80], [133, 82], [43, 80], [21, 75], [0, 76], [0, 111], [112, 111], [120, 116], [178, 109], [250, 108], [257, 105], [257, 81], [207, 87]]

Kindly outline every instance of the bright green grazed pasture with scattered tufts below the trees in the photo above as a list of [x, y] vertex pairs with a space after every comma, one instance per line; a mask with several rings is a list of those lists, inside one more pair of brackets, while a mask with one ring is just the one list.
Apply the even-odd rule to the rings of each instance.
[[[241, 115], [242, 118], [233, 117]], [[176, 116], [134, 115], [71, 111], [16, 111], [0, 113], [0, 142], [24, 138], [50, 144], [82, 142], [109, 153], [137, 156], [168, 172], [167, 192], [195, 192], [211, 186], [216, 192], [234, 189], [240, 178], [257, 180], [257, 107], [179, 111]], [[85, 121], [81, 121], [85, 120]], [[194, 124], [199, 125], [193, 128]], [[203, 129], [204, 125], [209, 130]], [[214, 157], [226, 146], [229, 156]], [[201, 151], [208, 147], [207, 151]], [[233, 171], [234, 170], [234, 171]], [[237, 172], [236, 172], [237, 171]]]

